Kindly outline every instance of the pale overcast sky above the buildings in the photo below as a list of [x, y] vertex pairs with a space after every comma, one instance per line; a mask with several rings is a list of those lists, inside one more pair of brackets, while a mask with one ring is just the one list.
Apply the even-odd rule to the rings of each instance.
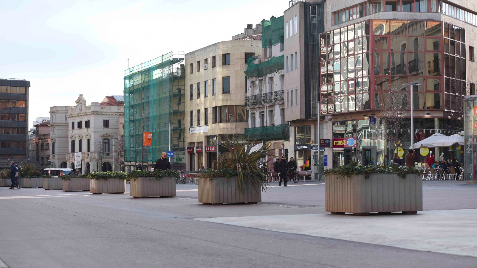
[[231, 40], [288, 0], [0, 0], [0, 77], [31, 82], [30, 122], [50, 106], [123, 95], [123, 71]]

